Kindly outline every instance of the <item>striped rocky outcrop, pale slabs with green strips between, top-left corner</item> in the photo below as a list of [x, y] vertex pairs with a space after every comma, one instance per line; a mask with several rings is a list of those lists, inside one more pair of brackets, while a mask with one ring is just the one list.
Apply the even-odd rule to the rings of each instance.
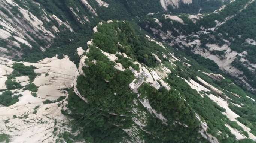
[[[38, 6], [40, 7], [39, 4]], [[25, 44], [33, 48], [30, 41], [36, 42], [37, 38], [48, 43], [45, 47], [40, 47], [41, 50], [45, 50], [55, 38], [51, 29], [45, 27], [45, 23], [50, 21], [46, 13], [42, 13], [42, 17], [37, 17], [13, 0], [1, 0], [0, 8], [0, 25], [3, 27], [0, 28], [0, 39], [8, 41], [0, 50], [2, 54], [15, 53], [21, 56], [22, 53], [12, 46], [21, 48], [21, 44]], [[16, 14], [13, 9], [16, 9]]]

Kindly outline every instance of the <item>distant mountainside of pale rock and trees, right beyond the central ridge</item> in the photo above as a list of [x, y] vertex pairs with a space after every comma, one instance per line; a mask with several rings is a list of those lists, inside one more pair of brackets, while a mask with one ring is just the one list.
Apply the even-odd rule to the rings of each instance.
[[255, 4], [254, 0], [235, 1], [210, 14], [152, 15], [141, 25], [171, 46], [213, 60], [219, 69], [239, 79], [241, 86], [255, 90], [255, 26], [250, 23]]

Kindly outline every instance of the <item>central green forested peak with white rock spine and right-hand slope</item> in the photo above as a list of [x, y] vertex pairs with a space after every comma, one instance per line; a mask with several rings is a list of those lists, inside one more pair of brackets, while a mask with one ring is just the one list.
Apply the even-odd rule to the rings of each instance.
[[[232, 117], [238, 114], [241, 99], [247, 104], [243, 102], [240, 108], [255, 106], [247, 97], [250, 93], [225, 77], [208, 77], [202, 71], [212, 71], [205, 66], [190, 57], [184, 59], [179, 52], [175, 52], [179, 58], [174, 57], [173, 48], [150, 42], [152, 39], [135, 29], [127, 21], [97, 25], [89, 48], [80, 55], [85, 64], [80, 64], [77, 82], [67, 98], [64, 114], [76, 119], [73, 130], [81, 133], [70, 135], [70, 140], [253, 143], [246, 139], [255, 139], [253, 130], [247, 132], [240, 125], [250, 119]], [[144, 51], [144, 46], [153, 54]], [[202, 84], [199, 77], [216, 88]]]

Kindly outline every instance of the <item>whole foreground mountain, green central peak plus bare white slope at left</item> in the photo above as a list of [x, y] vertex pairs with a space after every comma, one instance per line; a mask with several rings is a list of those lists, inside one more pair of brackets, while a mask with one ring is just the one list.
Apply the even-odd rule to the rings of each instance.
[[254, 142], [253, 95], [127, 21], [94, 31], [88, 49], [76, 50], [78, 68], [67, 56], [1, 58], [4, 140]]

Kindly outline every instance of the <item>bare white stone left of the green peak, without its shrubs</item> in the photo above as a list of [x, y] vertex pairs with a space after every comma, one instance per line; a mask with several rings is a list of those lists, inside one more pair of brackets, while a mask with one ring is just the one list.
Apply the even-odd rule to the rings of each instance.
[[[13, 63], [10, 60], [3, 60], [1, 58], [0, 63], [6, 62], [5, 66]], [[33, 82], [36, 86], [39, 86], [36, 92], [37, 97], [33, 97], [28, 90], [12, 90], [12, 92], [17, 92], [15, 95], [21, 94], [23, 96], [19, 97], [17, 103], [9, 107], [0, 106], [1, 133], [9, 134], [12, 137], [12, 143], [55, 142], [58, 137], [53, 136], [54, 128], [58, 128], [55, 131], [57, 134], [70, 131], [71, 129], [67, 125], [62, 125], [62, 123], [67, 124], [69, 119], [61, 113], [62, 108], [58, 106], [61, 102], [43, 104], [43, 101], [46, 99], [56, 100], [58, 97], [66, 95], [62, 89], [70, 88], [74, 79], [76, 65], [67, 56], [63, 59], [58, 59], [57, 57], [46, 58], [38, 63], [24, 62], [24, 65], [34, 65], [36, 66], [34, 71], [41, 73]], [[10, 71], [12, 70], [4, 74], [10, 74]], [[49, 73], [49, 75], [46, 76], [45, 73]], [[21, 84], [25, 84], [28, 82], [27, 80], [27, 76], [16, 77], [16, 81]], [[33, 113], [34, 108], [37, 106], [37, 112]], [[13, 118], [13, 115], [16, 115], [17, 118]], [[28, 115], [28, 118], [19, 118], [24, 115]], [[9, 123], [4, 123], [4, 120], [9, 120]]]

